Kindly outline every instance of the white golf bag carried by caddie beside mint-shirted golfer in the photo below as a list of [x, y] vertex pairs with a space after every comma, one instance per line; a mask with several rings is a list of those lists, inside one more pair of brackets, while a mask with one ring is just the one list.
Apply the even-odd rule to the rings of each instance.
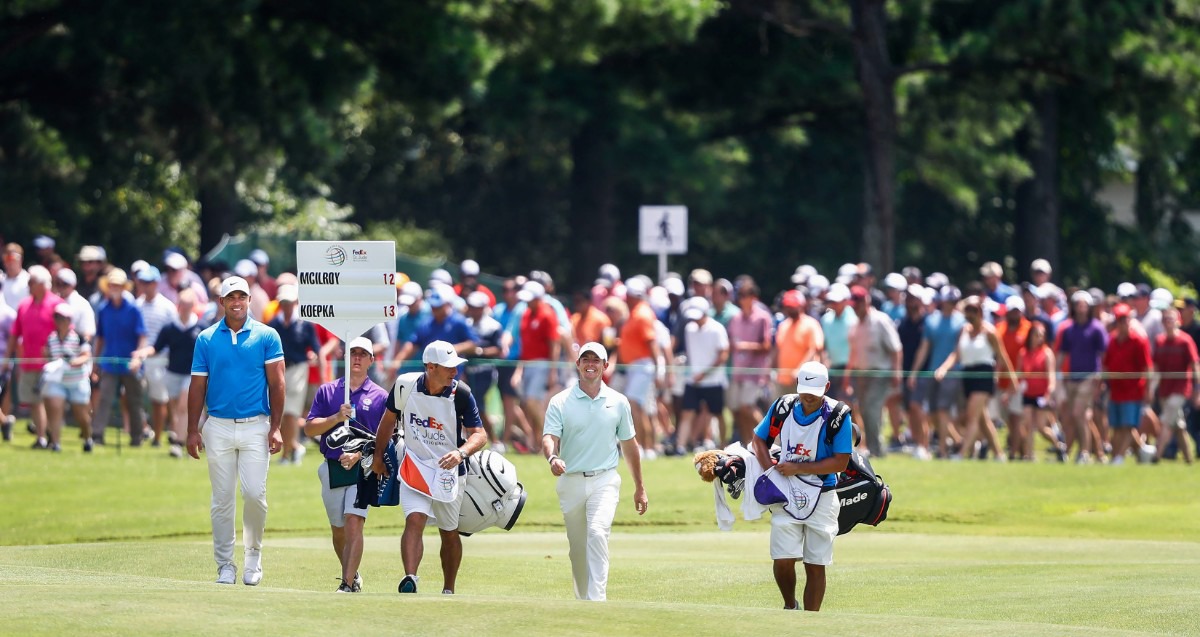
[[492, 527], [511, 530], [524, 507], [524, 485], [517, 468], [504, 456], [484, 450], [467, 458], [462, 476], [458, 534], [472, 535]]

